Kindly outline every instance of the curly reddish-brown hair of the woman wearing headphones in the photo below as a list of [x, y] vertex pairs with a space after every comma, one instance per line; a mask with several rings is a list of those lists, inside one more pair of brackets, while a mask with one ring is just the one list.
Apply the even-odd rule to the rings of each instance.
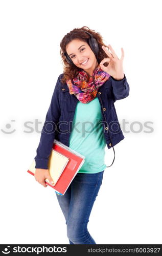
[[82, 70], [81, 68], [78, 68], [77, 66], [71, 65], [70, 63], [68, 63], [64, 56], [64, 53], [66, 52], [67, 44], [71, 42], [73, 39], [80, 39], [82, 41], [87, 42], [87, 39], [90, 36], [87, 33], [82, 32], [80, 30], [89, 32], [97, 40], [99, 45], [99, 52], [98, 52], [98, 58], [97, 58], [98, 63], [100, 63], [101, 60], [103, 60], [104, 58], [108, 57], [104, 52], [104, 50], [102, 49], [102, 46], [105, 46], [105, 47], [107, 46], [103, 43], [103, 38], [100, 35], [100, 33], [95, 32], [95, 30], [91, 30], [86, 26], [83, 26], [82, 28], [73, 29], [72, 31], [70, 31], [70, 33], [67, 33], [60, 42], [60, 48], [61, 48], [60, 55], [62, 58], [61, 61], [63, 62], [63, 73], [64, 73], [63, 77], [61, 78], [61, 82], [63, 83], [66, 82], [66, 79], [70, 79], [70, 78], [73, 79], [74, 77], [76, 77], [78, 75], [78, 72]]

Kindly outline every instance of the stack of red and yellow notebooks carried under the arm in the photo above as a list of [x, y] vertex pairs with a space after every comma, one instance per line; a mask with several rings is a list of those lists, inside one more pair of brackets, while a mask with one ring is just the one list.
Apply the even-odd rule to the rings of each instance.
[[[54, 185], [48, 179], [45, 179], [45, 183], [53, 187], [58, 195], [63, 196], [84, 161], [85, 156], [55, 139], [48, 162], [49, 173]], [[36, 170], [35, 165], [34, 160], [27, 171], [33, 176]]]

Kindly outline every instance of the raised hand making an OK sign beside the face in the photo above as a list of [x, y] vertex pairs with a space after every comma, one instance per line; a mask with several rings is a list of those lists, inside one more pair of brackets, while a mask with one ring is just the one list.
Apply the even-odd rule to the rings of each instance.
[[[122, 50], [122, 57], [121, 59], [118, 58], [117, 54], [115, 54], [114, 50], [110, 45], [108, 45], [109, 50], [105, 46], [102, 46], [102, 49], [107, 54], [108, 58], [104, 58], [100, 62], [100, 68], [108, 73], [110, 76], [112, 76], [116, 80], [121, 80], [124, 78], [124, 71], [123, 71], [123, 59], [124, 59], [124, 50]], [[108, 66], [105, 67], [103, 63], [108, 62]]]

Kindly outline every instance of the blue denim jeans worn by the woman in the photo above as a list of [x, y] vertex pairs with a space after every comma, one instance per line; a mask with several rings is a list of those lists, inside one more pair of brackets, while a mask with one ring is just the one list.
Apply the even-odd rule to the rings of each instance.
[[103, 173], [104, 170], [96, 174], [78, 173], [64, 196], [56, 194], [66, 220], [70, 244], [96, 244], [87, 230], [87, 224], [102, 184]]

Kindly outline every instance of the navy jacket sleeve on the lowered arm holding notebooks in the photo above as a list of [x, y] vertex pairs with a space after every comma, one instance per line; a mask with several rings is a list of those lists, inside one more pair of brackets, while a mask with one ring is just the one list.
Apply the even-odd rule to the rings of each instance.
[[55, 139], [56, 125], [60, 117], [59, 90], [60, 76], [57, 79], [56, 86], [52, 95], [49, 110], [45, 117], [45, 122], [41, 130], [40, 142], [36, 150], [35, 168], [48, 169], [49, 156]]

